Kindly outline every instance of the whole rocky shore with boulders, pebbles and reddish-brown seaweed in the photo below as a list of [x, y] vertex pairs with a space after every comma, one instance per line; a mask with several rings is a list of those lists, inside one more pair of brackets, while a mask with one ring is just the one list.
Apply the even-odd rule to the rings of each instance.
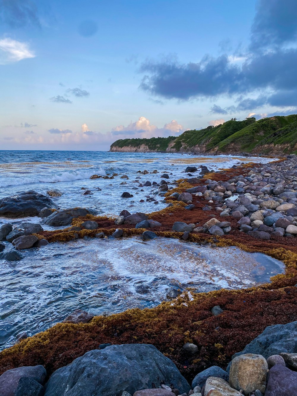
[[[188, 167], [184, 179], [171, 181], [173, 175], [165, 172], [155, 184], [144, 180], [142, 175], [149, 178], [147, 171], [139, 171], [139, 175], [136, 188], [150, 189], [147, 200], [162, 199], [167, 203], [165, 209], [150, 214], [123, 209], [118, 217], [109, 218], [89, 209], [58, 209], [50, 198], [34, 191], [0, 200], [2, 216], [38, 214], [46, 225], [68, 226], [44, 230], [40, 224], [24, 223], [15, 228], [4, 224], [0, 240], [11, 242], [13, 248], [8, 250], [0, 244], [1, 258], [20, 260], [26, 249], [55, 241], [141, 235], [149, 243], [150, 239], [166, 236], [260, 251], [283, 261], [286, 273], [259, 287], [188, 291], [156, 308], [57, 324], [0, 352], [0, 372], [4, 373], [0, 390], [8, 389], [10, 393], [4, 395], [19, 396], [44, 392], [295, 395], [297, 156], [270, 164], [234, 166], [221, 172], [209, 172], [203, 166]], [[127, 191], [119, 199], [124, 205], [132, 197], [133, 191]], [[126, 345], [131, 342], [133, 345]], [[151, 343], [158, 350], [147, 345]], [[232, 355], [241, 349], [229, 364]], [[114, 372], [110, 371], [112, 365], [117, 367]], [[130, 365], [135, 371], [131, 368], [133, 375], [125, 377], [125, 367]], [[142, 365], [147, 367], [145, 372], [139, 371]], [[16, 368], [19, 366], [26, 367]], [[148, 367], [152, 368], [149, 377]], [[115, 388], [110, 388], [110, 376], [116, 378]], [[24, 393], [26, 387], [33, 389], [31, 393]], [[154, 389], [144, 390], [148, 388]]]

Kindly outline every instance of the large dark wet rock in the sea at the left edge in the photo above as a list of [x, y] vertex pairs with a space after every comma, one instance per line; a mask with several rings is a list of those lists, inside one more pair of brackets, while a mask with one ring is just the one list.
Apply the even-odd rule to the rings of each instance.
[[36, 191], [21, 192], [0, 200], [0, 216], [37, 216], [43, 208], [55, 208], [53, 201]]

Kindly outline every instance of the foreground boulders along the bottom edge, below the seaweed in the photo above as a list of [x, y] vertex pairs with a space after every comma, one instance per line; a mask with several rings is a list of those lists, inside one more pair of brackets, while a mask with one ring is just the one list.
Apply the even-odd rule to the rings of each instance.
[[[232, 356], [226, 370], [211, 366], [197, 373], [191, 386], [175, 364], [153, 345], [104, 344], [57, 369], [49, 378], [41, 365], [5, 371], [0, 376], [0, 394], [295, 396], [296, 335], [297, 322], [268, 326], [244, 350]], [[185, 346], [190, 355], [199, 347], [189, 343]]]

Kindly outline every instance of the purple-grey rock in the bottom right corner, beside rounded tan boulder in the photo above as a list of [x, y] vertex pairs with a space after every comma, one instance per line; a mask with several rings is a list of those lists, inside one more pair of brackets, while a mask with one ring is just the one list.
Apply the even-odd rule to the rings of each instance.
[[265, 396], [296, 396], [297, 373], [276, 364], [268, 372]]

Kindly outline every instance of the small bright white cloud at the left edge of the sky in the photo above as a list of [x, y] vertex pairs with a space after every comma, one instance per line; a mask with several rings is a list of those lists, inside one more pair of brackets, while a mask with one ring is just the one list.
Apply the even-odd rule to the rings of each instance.
[[34, 58], [36, 55], [29, 49], [28, 43], [22, 43], [12, 38], [0, 40], [0, 64], [18, 62], [22, 59]]

